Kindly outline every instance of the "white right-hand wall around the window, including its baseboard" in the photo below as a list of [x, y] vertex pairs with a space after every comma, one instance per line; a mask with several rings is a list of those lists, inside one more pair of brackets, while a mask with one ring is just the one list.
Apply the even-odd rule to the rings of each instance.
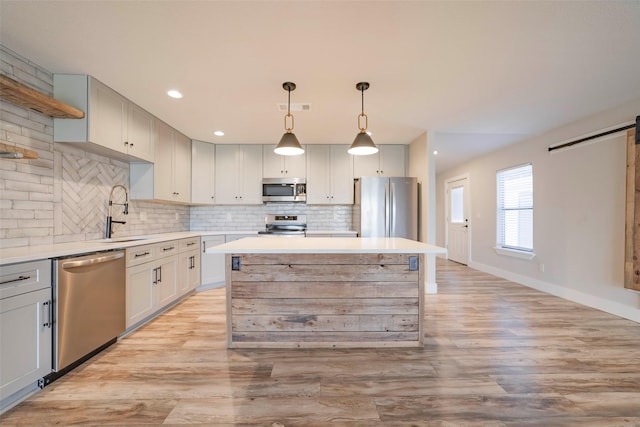
[[[638, 114], [640, 99], [438, 174], [437, 244], [445, 244], [445, 182], [468, 174], [470, 267], [640, 322], [640, 294], [623, 285], [626, 133], [547, 150]], [[531, 261], [493, 249], [496, 171], [528, 162], [533, 164], [536, 253]]]

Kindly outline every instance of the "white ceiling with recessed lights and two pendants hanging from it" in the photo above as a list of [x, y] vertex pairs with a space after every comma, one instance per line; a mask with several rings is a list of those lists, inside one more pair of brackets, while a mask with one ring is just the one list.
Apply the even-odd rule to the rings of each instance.
[[349, 144], [368, 81], [374, 141], [431, 131], [438, 171], [640, 97], [638, 0], [0, 0], [0, 42], [210, 142], [277, 143], [293, 81], [298, 139]]

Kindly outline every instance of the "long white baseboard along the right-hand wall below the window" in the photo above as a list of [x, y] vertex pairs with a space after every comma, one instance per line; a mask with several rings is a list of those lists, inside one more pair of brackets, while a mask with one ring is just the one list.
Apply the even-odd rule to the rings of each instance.
[[602, 298], [585, 294], [584, 292], [580, 292], [576, 289], [566, 288], [564, 286], [559, 286], [553, 283], [534, 279], [532, 277], [523, 276], [521, 274], [502, 270], [500, 268], [496, 268], [479, 262], [470, 262], [469, 267], [479, 271], [483, 271], [485, 273], [493, 274], [494, 276], [502, 277], [503, 279], [511, 280], [512, 282], [536, 289], [541, 292], [555, 295], [569, 301], [577, 302], [578, 304], [586, 305], [587, 307], [595, 308], [606, 313], [624, 317], [625, 319], [633, 320], [634, 322], [640, 323], [640, 310], [638, 310], [637, 308], [625, 306], [614, 301], [603, 300]]

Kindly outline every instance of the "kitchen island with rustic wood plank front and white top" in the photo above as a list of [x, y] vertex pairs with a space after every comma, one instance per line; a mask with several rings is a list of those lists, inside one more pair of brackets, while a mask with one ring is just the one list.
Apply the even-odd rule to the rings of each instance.
[[226, 254], [229, 348], [423, 345], [426, 255], [401, 238], [245, 238]]

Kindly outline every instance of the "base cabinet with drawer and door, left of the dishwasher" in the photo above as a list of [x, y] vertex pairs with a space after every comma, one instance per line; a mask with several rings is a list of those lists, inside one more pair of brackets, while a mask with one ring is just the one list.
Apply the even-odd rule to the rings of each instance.
[[51, 372], [51, 261], [7, 265], [0, 273], [0, 409]]

